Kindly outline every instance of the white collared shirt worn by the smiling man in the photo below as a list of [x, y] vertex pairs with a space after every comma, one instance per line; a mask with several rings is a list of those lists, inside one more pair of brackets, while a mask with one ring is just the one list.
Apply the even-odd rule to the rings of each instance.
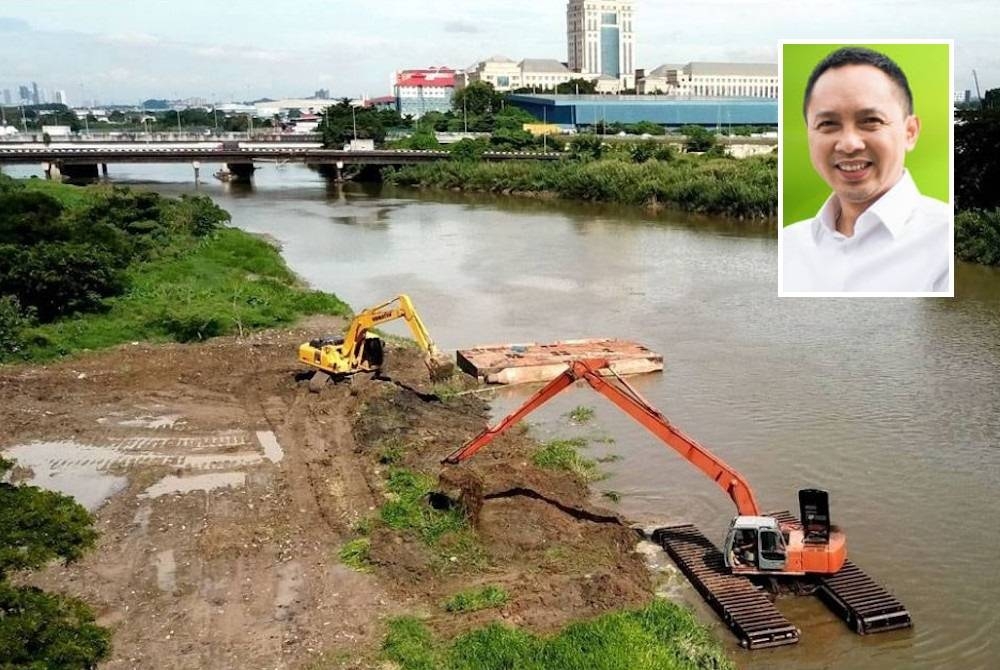
[[865, 210], [854, 235], [837, 232], [831, 195], [812, 219], [782, 230], [783, 292], [948, 290], [952, 208], [921, 195], [910, 173]]

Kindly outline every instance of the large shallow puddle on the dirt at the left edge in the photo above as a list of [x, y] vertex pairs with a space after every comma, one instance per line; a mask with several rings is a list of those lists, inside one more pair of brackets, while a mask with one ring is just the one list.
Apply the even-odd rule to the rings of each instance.
[[[109, 451], [71, 441], [35, 442], [7, 449], [4, 455], [31, 468], [34, 474], [26, 483], [72, 496], [93, 512], [128, 484], [126, 477], [104, 471]], [[67, 456], [80, 459], [80, 463], [67, 465]]]

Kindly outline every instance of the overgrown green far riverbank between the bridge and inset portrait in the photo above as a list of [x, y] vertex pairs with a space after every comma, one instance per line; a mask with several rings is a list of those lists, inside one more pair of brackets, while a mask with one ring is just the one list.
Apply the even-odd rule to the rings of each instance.
[[386, 170], [402, 186], [468, 190], [766, 219], [776, 214], [777, 158], [680, 155], [634, 163], [620, 158], [559, 162], [442, 161]]

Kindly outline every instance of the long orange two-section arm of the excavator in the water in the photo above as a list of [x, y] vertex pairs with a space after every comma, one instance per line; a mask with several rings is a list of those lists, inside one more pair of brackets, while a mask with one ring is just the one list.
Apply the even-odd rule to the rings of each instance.
[[[602, 371], [610, 371], [615, 381], [602, 376]], [[726, 492], [736, 504], [736, 509], [740, 515], [760, 515], [760, 507], [757, 505], [753, 491], [740, 473], [726, 465], [722, 459], [715, 456], [694, 439], [675, 428], [665, 416], [646, 402], [639, 395], [639, 392], [632, 388], [628, 382], [615, 375], [608, 362], [603, 359], [574, 361], [565, 372], [535, 393], [521, 407], [505, 417], [495, 427], [487, 427], [479, 435], [472, 438], [468, 444], [445, 458], [443, 462], [455, 464], [470, 458], [477, 451], [489, 444], [493, 438], [545, 404], [545, 402], [567, 386], [581, 379], [587, 382], [595, 391], [614, 403], [619, 409], [638, 421], [646, 430], [683, 456], [689, 463], [701, 470], [719, 488]]]

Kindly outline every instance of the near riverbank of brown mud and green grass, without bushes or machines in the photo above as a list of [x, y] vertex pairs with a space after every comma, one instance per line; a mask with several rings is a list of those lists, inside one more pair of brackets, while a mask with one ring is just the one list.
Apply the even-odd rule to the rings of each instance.
[[[100, 220], [109, 202], [187, 211], [121, 189], [25, 189], [62, 203], [59, 221]], [[139, 220], [148, 233], [182, 219]], [[519, 432], [442, 473], [486, 421], [486, 403], [454, 395], [471, 379], [431, 386], [419, 352], [393, 345], [391, 381], [311, 394], [295, 347], [343, 319], [263, 324], [346, 306], [240, 231], [164, 239], [127, 268], [127, 290], [28, 326], [16, 352], [79, 355], [0, 368], [0, 449], [96, 510], [95, 551], [29, 581], [93, 605], [113, 631], [103, 667], [731, 667], [689, 611], [654, 597], [638, 536], [566, 467], [584, 456], [537, 458], [555, 447]], [[461, 505], [431, 506], [442, 488]]]

